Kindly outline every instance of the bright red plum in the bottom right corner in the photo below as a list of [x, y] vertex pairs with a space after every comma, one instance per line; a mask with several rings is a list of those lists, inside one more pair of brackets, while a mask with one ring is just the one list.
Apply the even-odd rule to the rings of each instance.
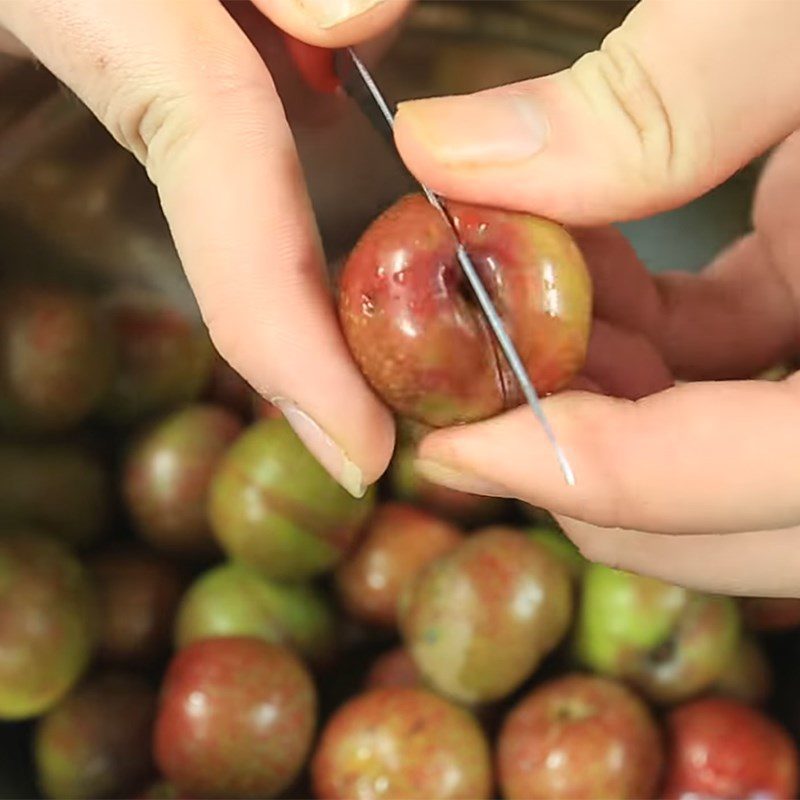
[[797, 748], [760, 711], [727, 698], [703, 698], [673, 710], [666, 730], [664, 800], [797, 797]]

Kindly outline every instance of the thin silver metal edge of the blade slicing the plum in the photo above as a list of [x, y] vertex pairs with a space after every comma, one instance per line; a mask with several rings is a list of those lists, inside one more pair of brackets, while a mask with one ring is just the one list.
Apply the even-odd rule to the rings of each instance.
[[[386, 122], [386, 126], [388, 128], [388, 132], [391, 134], [392, 129], [394, 128], [394, 114], [392, 109], [389, 107], [389, 104], [386, 102], [383, 94], [381, 93], [378, 85], [375, 83], [372, 75], [370, 74], [367, 67], [355, 53], [353, 48], [347, 48], [347, 54], [350, 57], [353, 65], [355, 66], [358, 74], [363, 81], [363, 84], [367, 91], [369, 92], [371, 98], [375, 102], [375, 106], [377, 107], [378, 111], [380, 112], [380, 116]], [[343, 72], [340, 72], [340, 76], [343, 75]], [[342, 79], [343, 84], [345, 83], [345, 79]], [[363, 103], [359, 103], [360, 106], [363, 107]], [[368, 113], [368, 112], [365, 112]], [[368, 114], [371, 119], [374, 117], [372, 114]], [[539, 395], [536, 392], [536, 388], [534, 387], [533, 383], [531, 382], [530, 377], [528, 377], [528, 373], [525, 370], [525, 366], [522, 363], [522, 359], [517, 352], [517, 348], [514, 346], [514, 342], [511, 340], [511, 337], [508, 334], [508, 331], [503, 324], [503, 320], [500, 317], [497, 309], [492, 302], [492, 299], [489, 295], [489, 292], [486, 290], [486, 287], [483, 285], [483, 281], [480, 278], [480, 274], [478, 273], [475, 264], [472, 262], [472, 259], [467, 253], [466, 248], [461, 243], [461, 239], [458, 235], [458, 231], [456, 230], [455, 224], [450, 217], [450, 214], [447, 212], [447, 208], [445, 207], [442, 200], [432, 192], [427, 186], [420, 184], [422, 187], [422, 191], [425, 193], [425, 196], [428, 198], [430, 204], [436, 208], [437, 211], [442, 215], [442, 217], [447, 222], [448, 227], [453, 233], [453, 236], [456, 240], [456, 256], [458, 258], [458, 263], [461, 266], [464, 275], [466, 275], [467, 280], [469, 281], [470, 286], [472, 287], [472, 291], [475, 293], [475, 296], [478, 300], [478, 303], [486, 315], [486, 319], [489, 323], [489, 326], [492, 329], [495, 337], [497, 338], [498, 344], [500, 345], [500, 349], [503, 351], [509, 366], [511, 367], [511, 371], [514, 373], [517, 381], [519, 382], [520, 389], [522, 390], [522, 394], [525, 397], [528, 405], [531, 407], [533, 413], [536, 415], [536, 418], [539, 420], [539, 423], [542, 426], [542, 429], [545, 432], [550, 444], [553, 447], [553, 450], [556, 455], [556, 459], [558, 460], [558, 465], [561, 468], [561, 472], [564, 475], [564, 479], [566, 480], [569, 486], [575, 485], [575, 474], [572, 471], [572, 467], [570, 466], [569, 461], [567, 460], [567, 456], [564, 453], [561, 445], [558, 443], [556, 439], [555, 433], [545, 416], [545, 413], [542, 409], [541, 403], [539, 401]]]

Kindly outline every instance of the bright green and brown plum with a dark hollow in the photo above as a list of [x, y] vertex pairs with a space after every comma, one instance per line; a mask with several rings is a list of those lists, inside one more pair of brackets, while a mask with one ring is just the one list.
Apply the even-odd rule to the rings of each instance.
[[729, 597], [600, 564], [586, 568], [575, 638], [579, 660], [655, 702], [679, 702], [711, 687], [739, 641], [738, 609]]

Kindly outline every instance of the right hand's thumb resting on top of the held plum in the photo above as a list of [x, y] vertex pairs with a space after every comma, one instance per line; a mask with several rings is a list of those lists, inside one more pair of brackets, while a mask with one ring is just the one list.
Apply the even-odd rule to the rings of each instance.
[[400, 106], [409, 168], [454, 199], [602, 224], [680, 205], [800, 126], [800, 3], [643, 0], [570, 69]]

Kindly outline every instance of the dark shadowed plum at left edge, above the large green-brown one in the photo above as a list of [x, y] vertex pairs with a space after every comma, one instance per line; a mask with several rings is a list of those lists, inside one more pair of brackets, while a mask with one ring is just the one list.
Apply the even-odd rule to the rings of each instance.
[[0, 522], [40, 528], [65, 544], [93, 544], [110, 517], [109, 476], [79, 444], [0, 444]]

